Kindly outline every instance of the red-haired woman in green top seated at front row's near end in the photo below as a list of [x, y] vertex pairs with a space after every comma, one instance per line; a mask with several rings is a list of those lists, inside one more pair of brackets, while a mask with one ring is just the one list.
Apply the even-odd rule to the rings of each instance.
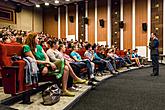
[[62, 77], [62, 94], [66, 96], [74, 96], [74, 93], [67, 90], [67, 81], [69, 75], [68, 68], [64, 69], [63, 66], [62, 68], [60, 68], [60, 72], [57, 74], [56, 65], [50, 62], [43, 48], [40, 45], [38, 45], [38, 42], [39, 39], [37, 34], [28, 34], [23, 48], [25, 56], [31, 57], [36, 60], [36, 63], [39, 67], [39, 71], [43, 76], [49, 74], [55, 76], [57, 79], [60, 79]]

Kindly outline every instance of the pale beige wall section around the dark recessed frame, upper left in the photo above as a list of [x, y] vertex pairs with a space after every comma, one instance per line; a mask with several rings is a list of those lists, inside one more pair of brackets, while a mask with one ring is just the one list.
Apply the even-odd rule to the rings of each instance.
[[[11, 2], [5, 2], [0, 0], [0, 7], [7, 8], [9, 10], [15, 10], [16, 5]], [[15, 13], [15, 23], [0, 20], [0, 28], [7, 27], [10, 25], [12, 29], [16, 30], [34, 30], [36, 32], [43, 31], [43, 14], [42, 9], [33, 10], [33, 7], [22, 6], [22, 11], [20, 13]], [[34, 25], [33, 25], [34, 24]]]

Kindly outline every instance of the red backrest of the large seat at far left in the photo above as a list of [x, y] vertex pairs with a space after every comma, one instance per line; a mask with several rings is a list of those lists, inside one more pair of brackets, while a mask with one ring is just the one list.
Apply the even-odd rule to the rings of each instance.
[[23, 46], [21, 44], [0, 44], [0, 66], [11, 66], [11, 57], [16, 54], [22, 56]]

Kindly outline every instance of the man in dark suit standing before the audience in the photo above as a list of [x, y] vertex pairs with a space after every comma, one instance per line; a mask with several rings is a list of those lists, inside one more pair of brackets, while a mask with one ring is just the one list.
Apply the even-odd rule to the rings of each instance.
[[151, 60], [153, 65], [153, 73], [151, 76], [159, 75], [159, 41], [155, 33], [151, 33], [149, 48], [151, 49]]

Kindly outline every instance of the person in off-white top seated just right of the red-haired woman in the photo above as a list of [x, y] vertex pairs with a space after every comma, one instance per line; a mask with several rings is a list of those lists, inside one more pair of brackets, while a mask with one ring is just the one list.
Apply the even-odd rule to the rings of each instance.
[[[50, 58], [51, 62], [54, 62], [56, 65], [59, 65], [59, 62], [61, 60], [65, 60], [61, 52], [58, 51], [59, 44], [58, 41], [48, 41], [48, 44], [50, 45], [50, 48], [46, 51], [46, 54]], [[69, 75], [74, 79], [75, 83], [85, 83], [86, 80], [82, 80], [81, 78], [77, 77], [70, 66], [69, 62], [65, 60], [65, 68], [68, 68]], [[72, 83], [72, 82], [70, 82]], [[72, 84], [71, 84], [72, 85]], [[71, 86], [69, 86], [70, 88]]]

